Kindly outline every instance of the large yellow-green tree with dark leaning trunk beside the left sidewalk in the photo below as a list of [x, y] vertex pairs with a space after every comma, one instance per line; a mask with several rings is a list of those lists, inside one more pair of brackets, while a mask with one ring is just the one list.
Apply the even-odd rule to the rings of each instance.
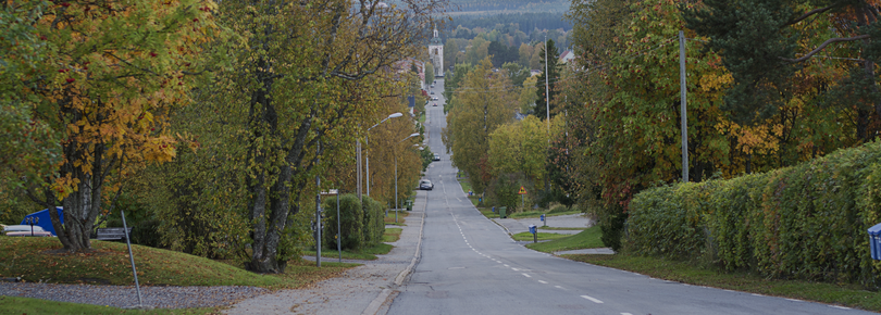
[[313, 199], [306, 189], [322, 189], [311, 186], [327, 168], [320, 160], [350, 149], [385, 114], [375, 113], [377, 100], [406, 84], [396, 79], [396, 63], [424, 53], [424, 26], [443, 10], [434, 0], [400, 1], [400, 9], [370, 3], [223, 2], [228, 27], [247, 35], [221, 48], [235, 67], [218, 94], [241, 100], [221, 104], [244, 114], [231, 131], [245, 148], [236, 159], [247, 169], [251, 270], [281, 273], [296, 256], [282, 244]]

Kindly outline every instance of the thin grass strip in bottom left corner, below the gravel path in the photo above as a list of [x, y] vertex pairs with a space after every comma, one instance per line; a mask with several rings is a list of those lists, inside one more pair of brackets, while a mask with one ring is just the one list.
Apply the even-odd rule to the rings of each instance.
[[101, 305], [55, 302], [40, 299], [2, 297], [0, 295], [0, 313], [2, 314], [219, 314], [214, 308], [157, 308], [157, 310], [124, 310]]

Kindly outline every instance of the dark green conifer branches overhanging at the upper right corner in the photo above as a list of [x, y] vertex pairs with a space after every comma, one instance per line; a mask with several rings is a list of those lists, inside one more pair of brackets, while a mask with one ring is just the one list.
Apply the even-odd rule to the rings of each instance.
[[[881, 46], [873, 40], [881, 36], [879, 5], [872, 0], [710, 0], [702, 7], [682, 3], [680, 10], [687, 26], [709, 36], [708, 47], [722, 52], [722, 64], [734, 81], [723, 110], [741, 125], [752, 126], [778, 113], [794, 97], [792, 78], [809, 60], [820, 53], [854, 51], [852, 58], [859, 59], [863, 72], [851, 72], [851, 81], [869, 91], [856, 102], [856, 131], [865, 141], [873, 137], [868, 131], [870, 113], [881, 115], [874, 75]], [[804, 32], [811, 28], [816, 30]], [[877, 124], [878, 118], [871, 119]]]

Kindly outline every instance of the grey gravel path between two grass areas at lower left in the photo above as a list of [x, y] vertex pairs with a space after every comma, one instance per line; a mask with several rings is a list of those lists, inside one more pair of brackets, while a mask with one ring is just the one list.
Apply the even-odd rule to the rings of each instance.
[[[144, 305], [157, 308], [229, 305], [266, 292], [269, 290], [257, 287], [140, 287]], [[114, 307], [131, 307], [138, 303], [134, 286], [0, 282], [0, 295]]]

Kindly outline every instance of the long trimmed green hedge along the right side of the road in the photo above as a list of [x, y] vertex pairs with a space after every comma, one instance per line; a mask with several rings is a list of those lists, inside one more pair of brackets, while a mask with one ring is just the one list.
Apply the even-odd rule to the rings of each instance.
[[871, 260], [867, 229], [879, 214], [881, 142], [871, 142], [766, 174], [640, 192], [626, 250], [877, 287], [881, 263]]

